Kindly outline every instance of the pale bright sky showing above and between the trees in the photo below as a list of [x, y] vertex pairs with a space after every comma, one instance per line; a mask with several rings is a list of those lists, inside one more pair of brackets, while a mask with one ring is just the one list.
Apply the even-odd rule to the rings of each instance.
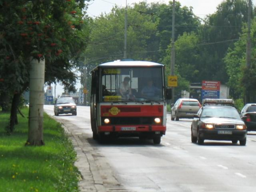
[[[132, 6], [133, 3], [138, 3], [141, 1], [146, 1], [147, 3], [159, 2], [168, 4], [169, 1], [171, 3], [173, 0], [92, 0], [88, 4], [87, 13], [89, 17], [97, 17], [101, 13], [108, 14], [112, 7], [117, 5], [118, 7], [125, 7], [127, 5]], [[193, 7], [193, 12], [198, 17], [202, 19], [208, 15], [216, 12], [216, 7], [223, 2], [223, 0], [177, 0], [180, 2], [181, 6]], [[255, 6], [256, 0], [252, 0], [252, 4]], [[53, 88], [55, 85], [52, 85]], [[80, 83], [76, 85], [76, 88], [81, 88]], [[46, 88], [45, 88], [46, 89]], [[63, 92], [63, 87], [59, 84], [56, 85], [56, 96], [61, 95]]]

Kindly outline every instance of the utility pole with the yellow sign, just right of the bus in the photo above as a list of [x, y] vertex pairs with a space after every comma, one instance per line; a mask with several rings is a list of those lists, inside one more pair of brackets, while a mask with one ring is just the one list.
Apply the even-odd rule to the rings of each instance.
[[[174, 76], [174, 66], [175, 66], [175, 44], [174, 36], [175, 34], [175, 0], [173, 0], [173, 21], [172, 21], [172, 42], [171, 42], [171, 76]], [[172, 91], [172, 103], [174, 102], [174, 87]]]

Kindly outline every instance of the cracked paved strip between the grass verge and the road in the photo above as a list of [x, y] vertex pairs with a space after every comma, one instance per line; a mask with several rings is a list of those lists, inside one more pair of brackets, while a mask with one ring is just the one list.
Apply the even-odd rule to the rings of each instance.
[[116, 180], [107, 159], [88, 142], [91, 135], [81, 133], [81, 130], [69, 121], [56, 121], [62, 123], [77, 153], [75, 165], [81, 173], [81, 192], [128, 192]]

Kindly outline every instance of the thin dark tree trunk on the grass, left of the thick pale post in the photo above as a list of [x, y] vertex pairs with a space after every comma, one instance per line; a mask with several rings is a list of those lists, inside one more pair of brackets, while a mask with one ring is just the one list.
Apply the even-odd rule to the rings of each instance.
[[17, 110], [18, 110], [20, 96], [21, 96], [21, 93], [16, 93], [13, 95], [13, 98], [12, 98], [10, 127], [8, 130], [9, 133], [12, 133], [14, 131], [14, 126], [18, 124]]

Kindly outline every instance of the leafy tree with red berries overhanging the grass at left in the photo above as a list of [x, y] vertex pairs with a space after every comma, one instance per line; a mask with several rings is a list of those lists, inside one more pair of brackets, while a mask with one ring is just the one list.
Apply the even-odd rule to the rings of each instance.
[[[14, 94], [13, 103], [28, 88], [31, 57], [45, 60], [46, 72], [51, 71], [46, 73], [48, 82], [64, 81], [67, 75], [62, 78], [63, 73], [69, 74], [68, 81], [73, 80], [66, 70], [76, 64], [88, 40], [84, 8], [85, 2], [80, 0], [0, 0], [0, 55], [4, 58], [0, 76], [6, 80], [5, 90]], [[54, 70], [58, 67], [63, 70]], [[68, 85], [68, 81], [64, 82]], [[17, 111], [15, 106], [12, 111]], [[15, 114], [11, 113], [11, 132], [12, 116]]]

